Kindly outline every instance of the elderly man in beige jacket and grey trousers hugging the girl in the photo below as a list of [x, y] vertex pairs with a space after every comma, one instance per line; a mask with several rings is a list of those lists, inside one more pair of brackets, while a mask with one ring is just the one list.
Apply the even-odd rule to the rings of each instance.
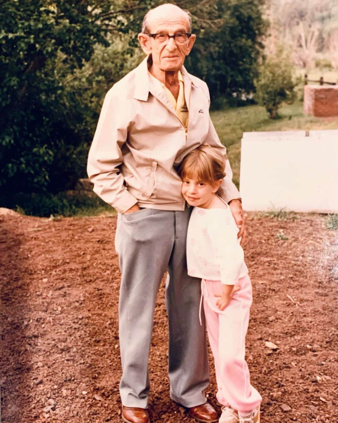
[[[122, 418], [150, 422], [148, 355], [155, 299], [168, 271], [170, 396], [196, 420], [215, 422], [217, 413], [203, 392], [209, 374], [199, 324], [200, 280], [186, 269], [190, 210], [175, 167], [201, 144], [226, 151], [209, 117], [207, 85], [183, 67], [195, 41], [188, 13], [158, 6], [144, 17], [138, 38], [147, 58], [107, 93], [88, 158], [94, 191], [119, 212]], [[224, 199], [241, 236], [243, 211], [228, 161], [226, 173]]]

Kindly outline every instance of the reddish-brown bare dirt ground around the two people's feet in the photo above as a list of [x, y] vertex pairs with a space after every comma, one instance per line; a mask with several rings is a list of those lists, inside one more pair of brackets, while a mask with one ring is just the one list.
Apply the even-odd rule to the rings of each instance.
[[[254, 304], [246, 357], [263, 397], [261, 421], [338, 422], [338, 231], [322, 215], [247, 220]], [[0, 216], [4, 423], [121, 421], [115, 227], [116, 217]], [[150, 415], [189, 422], [169, 398], [166, 359], [162, 284]], [[218, 407], [211, 354], [210, 376], [206, 394]]]

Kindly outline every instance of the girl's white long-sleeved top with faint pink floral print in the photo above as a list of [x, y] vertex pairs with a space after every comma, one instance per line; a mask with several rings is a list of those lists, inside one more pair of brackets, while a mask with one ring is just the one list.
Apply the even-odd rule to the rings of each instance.
[[248, 274], [230, 207], [194, 207], [187, 233], [188, 275], [234, 285]]

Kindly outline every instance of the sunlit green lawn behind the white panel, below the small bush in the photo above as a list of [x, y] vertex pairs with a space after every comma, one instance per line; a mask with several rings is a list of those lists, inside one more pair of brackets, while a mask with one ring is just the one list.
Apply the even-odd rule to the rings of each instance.
[[228, 151], [237, 188], [240, 184], [240, 141], [243, 132], [338, 129], [338, 119], [304, 116], [302, 102], [285, 105], [278, 110], [278, 114], [278, 119], [269, 119], [265, 108], [258, 105], [210, 112], [218, 136]]

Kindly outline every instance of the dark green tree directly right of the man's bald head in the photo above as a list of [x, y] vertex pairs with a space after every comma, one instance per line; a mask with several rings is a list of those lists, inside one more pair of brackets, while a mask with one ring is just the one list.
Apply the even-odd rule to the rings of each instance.
[[267, 29], [263, 4], [263, 0], [224, 0], [192, 6], [197, 39], [186, 66], [207, 82], [212, 99], [254, 91]]

